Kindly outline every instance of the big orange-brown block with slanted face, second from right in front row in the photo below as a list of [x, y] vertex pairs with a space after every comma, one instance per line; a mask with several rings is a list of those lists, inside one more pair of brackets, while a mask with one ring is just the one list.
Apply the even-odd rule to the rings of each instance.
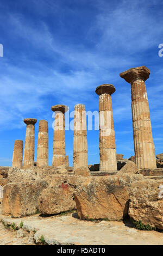
[[74, 199], [80, 218], [120, 220], [128, 214], [129, 185], [143, 179], [139, 174], [92, 177], [80, 184]]

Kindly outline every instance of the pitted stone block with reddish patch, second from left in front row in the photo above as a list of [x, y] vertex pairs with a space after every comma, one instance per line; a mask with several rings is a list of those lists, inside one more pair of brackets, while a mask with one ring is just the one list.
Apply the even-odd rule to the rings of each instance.
[[79, 175], [55, 175], [49, 186], [40, 193], [40, 212], [50, 215], [76, 209], [73, 193], [79, 184], [89, 180], [91, 178]]

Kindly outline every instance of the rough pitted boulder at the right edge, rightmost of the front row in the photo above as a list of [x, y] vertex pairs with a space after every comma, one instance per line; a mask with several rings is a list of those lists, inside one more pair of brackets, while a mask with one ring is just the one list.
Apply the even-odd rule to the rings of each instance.
[[[163, 180], [135, 181], [130, 186], [129, 216], [163, 229]], [[162, 186], [162, 187], [161, 187]]]

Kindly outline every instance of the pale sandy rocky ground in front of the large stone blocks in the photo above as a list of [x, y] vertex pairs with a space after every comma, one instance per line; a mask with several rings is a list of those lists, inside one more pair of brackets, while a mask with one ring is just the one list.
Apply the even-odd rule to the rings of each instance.
[[[77, 213], [42, 217], [39, 214], [12, 218], [0, 215], [5, 226], [13, 225], [17, 231], [11, 231], [0, 224], [0, 245], [162, 245], [163, 233], [141, 231], [133, 228], [128, 220], [80, 221]], [[23, 227], [20, 228], [20, 224]], [[12, 228], [11, 228], [12, 229]]]

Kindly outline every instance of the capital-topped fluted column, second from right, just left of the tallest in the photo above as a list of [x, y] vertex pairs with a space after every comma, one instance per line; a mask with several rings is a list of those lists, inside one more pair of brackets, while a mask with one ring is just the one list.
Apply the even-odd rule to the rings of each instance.
[[96, 88], [99, 95], [99, 170], [116, 172], [116, 145], [112, 114], [111, 94], [115, 92], [112, 84], [102, 84]]

